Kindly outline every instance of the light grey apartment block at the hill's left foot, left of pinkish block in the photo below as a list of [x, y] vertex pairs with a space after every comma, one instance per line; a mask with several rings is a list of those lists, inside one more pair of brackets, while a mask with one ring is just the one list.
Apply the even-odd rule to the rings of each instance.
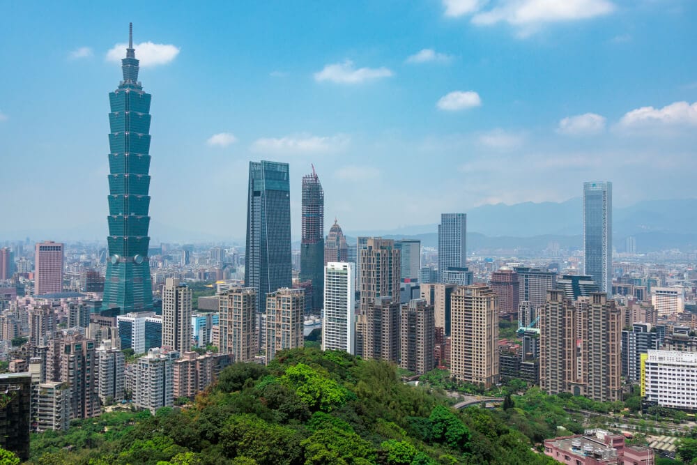
[[150, 349], [135, 364], [133, 404], [155, 413], [160, 407], [174, 405], [174, 360], [176, 351]]

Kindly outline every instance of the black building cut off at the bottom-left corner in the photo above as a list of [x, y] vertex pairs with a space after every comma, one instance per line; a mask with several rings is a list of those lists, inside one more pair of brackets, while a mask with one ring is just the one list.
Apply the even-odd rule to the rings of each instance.
[[22, 462], [29, 460], [31, 421], [31, 374], [0, 374], [0, 448], [14, 452]]

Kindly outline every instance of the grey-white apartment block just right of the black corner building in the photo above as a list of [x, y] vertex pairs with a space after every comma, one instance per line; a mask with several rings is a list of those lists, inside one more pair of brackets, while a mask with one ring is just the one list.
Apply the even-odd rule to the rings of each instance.
[[67, 431], [70, 426], [70, 398], [68, 383], [37, 383], [33, 389], [33, 431]]

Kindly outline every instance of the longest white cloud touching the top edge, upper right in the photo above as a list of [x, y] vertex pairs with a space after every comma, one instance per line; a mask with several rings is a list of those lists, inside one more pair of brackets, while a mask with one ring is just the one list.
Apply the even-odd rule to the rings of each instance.
[[491, 10], [477, 13], [474, 24], [507, 22], [516, 26], [546, 22], [588, 20], [608, 15], [615, 5], [608, 0], [503, 0]]

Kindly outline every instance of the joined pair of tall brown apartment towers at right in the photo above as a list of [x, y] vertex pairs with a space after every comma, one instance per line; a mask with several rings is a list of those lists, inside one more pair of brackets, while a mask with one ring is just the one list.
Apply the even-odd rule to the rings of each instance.
[[549, 291], [539, 319], [540, 387], [598, 402], [620, 399], [622, 312], [602, 292], [576, 302]]

